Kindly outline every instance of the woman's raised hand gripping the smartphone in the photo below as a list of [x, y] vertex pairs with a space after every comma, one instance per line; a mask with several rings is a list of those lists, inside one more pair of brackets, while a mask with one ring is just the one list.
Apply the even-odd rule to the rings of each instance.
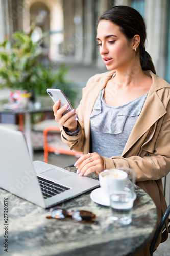
[[54, 111], [54, 116], [56, 122], [58, 122], [60, 125], [68, 128], [69, 132], [74, 132], [77, 129], [77, 121], [75, 118], [77, 117], [77, 114], [75, 114], [75, 110], [72, 109], [68, 113], [62, 116], [63, 112], [68, 109], [68, 105], [62, 106], [62, 108], [59, 109], [60, 106], [60, 100], [58, 100], [54, 106], [53, 106], [53, 111]]

